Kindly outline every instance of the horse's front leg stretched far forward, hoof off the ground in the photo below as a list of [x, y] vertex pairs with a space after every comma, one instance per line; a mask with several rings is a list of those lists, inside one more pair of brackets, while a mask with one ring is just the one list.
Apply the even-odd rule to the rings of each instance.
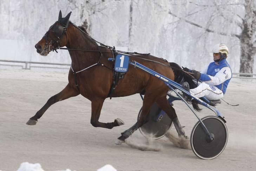
[[70, 97], [74, 97], [80, 94], [77, 89], [73, 88], [70, 83], [67, 84], [67, 86], [58, 94], [55, 94], [52, 96], [46, 104], [33, 116], [31, 117], [28, 122], [26, 123], [27, 125], [35, 125], [37, 123], [37, 120], [45, 113], [45, 111], [54, 103], [68, 99]]

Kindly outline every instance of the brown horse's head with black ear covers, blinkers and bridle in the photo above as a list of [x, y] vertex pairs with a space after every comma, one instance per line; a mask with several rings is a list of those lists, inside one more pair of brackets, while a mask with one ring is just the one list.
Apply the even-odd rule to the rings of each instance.
[[56, 21], [42, 37], [42, 39], [35, 44], [35, 48], [40, 55], [47, 56], [50, 51], [56, 50], [58, 47], [67, 45], [67, 27], [69, 24], [71, 12], [66, 17], [62, 17], [61, 10], [59, 12], [59, 19]]

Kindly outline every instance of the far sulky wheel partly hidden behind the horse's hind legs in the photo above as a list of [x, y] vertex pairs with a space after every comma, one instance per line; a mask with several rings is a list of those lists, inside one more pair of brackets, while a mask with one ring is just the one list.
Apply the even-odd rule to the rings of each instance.
[[[172, 127], [172, 120], [169, 116], [162, 112], [162, 109], [154, 103], [150, 109], [149, 115], [147, 116], [147, 123], [145, 123], [142, 127], [139, 128], [140, 133], [149, 138], [159, 139], [164, 136], [164, 134], [169, 131]], [[139, 111], [139, 116], [142, 112], [142, 108]]]

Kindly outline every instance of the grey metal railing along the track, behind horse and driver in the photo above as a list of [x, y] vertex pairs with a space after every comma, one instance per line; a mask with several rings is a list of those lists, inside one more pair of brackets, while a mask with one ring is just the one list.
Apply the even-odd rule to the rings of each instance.
[[[44, 65], [61, 65], [61, 66], [70, 66], [70, 64], [61, 64], [61, 63], [48, 63], [48, 62], [31, 62], [31, 61], [19, 61], [19, 60], [3, 60], [0, 59], [0, 62], [11, 62], [11, 63], [24, 63], [25, 67], [23, 65], [13, 65], [13, 64], [1, 64], [0, 65], [5, 65], [5, 66], [20, 66], [22, 69], [25, 70], [30, 70], [32, 67], [38, 67], [38, 68], [51, 68], [51, 69], [70, 69], [68, 68], [63, 68], [63, 67], [49, 67], [49, 66], [30, 66], [28, 64], [44, 64]], [[232, 73], [233, 77], [232, 78], [245, 78], [245, 79], [256, 79], [256, 74], [255, 73]], [[242, 75], [242, 76], [240, 76]], [[245, 77], [245, 76], [251, 76], [251, 77]]]

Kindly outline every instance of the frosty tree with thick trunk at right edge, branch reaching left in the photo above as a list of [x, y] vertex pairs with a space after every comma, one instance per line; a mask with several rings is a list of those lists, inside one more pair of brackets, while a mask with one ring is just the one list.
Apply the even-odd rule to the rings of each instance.
[[[222, 36], [237, 37], [241, 53], [239, 72], [252, 73], [256, 54], [256, 1], [214, 0], [212, 4], [206, 4], [204, 1], [186, 1], [184, 3], [194, 7], [189, 14], [181, 17], [171, 10], [169, 10], [169, 14], [177, 17], [179, 22], [185, 21], [194, 27], [202, 29], [202, 33], [208, 32]], [[242, 12], [241, 9], [243, 9]], [[191, 19], [191, 16], [200, 17], [202, 12], [206, 10], [210, 15], [204, 15], [208, 17], [206, 19], [207, 22], [204, 24], [193, 21], [194, 18]], [[220, 26], [216, 27], [218, 24]], [[228, 25], [237, 29], [232, 29]]]

